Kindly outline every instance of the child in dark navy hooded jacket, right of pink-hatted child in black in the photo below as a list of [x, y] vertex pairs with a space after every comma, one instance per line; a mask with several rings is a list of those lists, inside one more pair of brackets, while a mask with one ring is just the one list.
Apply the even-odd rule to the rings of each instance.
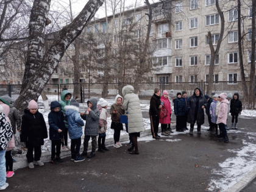
[[60, 158], [60, 148], [62, 146], [61, 138], [63, 138], [62, 131], [65, 129], [62, 105], [58, 101], [51, 102], [51, 112], [48, 115], [48, 122], [50, 126], [51, 163], [56, 165], [59, 162], [63, 162], [62, 158]]

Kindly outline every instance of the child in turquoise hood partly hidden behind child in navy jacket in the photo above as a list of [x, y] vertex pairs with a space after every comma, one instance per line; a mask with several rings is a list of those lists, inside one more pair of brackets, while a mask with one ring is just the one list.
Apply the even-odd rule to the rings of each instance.
[[[65, 110], [64, 107], [66, 105], [71, 105], [71, 99], [72, 94], [69, 93], [69, 91], [64, 90], [62, 91], [62, 95], [61, 95], [61, 101], [60, 101], [60, 105], [62, 105], [62, 112], [65, 115]], [[64, 121], [65, 123], [65, 127], [66, 129], [64, 129], [63, 131], [63, 135], [64, 135], [64, 143], [62, 143], [62, 151], [68, 151], [70, 150], [69, 146], [68, 146], [68, 122]]]

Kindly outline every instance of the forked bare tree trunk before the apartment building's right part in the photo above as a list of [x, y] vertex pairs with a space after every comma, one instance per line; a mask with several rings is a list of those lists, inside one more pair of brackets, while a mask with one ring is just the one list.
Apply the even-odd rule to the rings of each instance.
[[209, 72], [208, 72], [208, 86], [207, 86], [206, 94], [208, 94], [209, 96], [211, 96], [212, 88], [213, 88], [213, 73], [215, 68], [215, 59], [219, 53], [219, 49], [221, 48], [221, 42], [223, 39], [224, 27], [225, 27], [225, 18], [224, 18], [223, 12], [219, 8], [219, 0], [216, 0], [216, 8], [218, 10], [219, 17], [221, 18], [221, 32], [219, 33], [219, 40], [216, 46], [216, 50], [214, 49], [213, 42], [212, 42], [212, 33], [210, 31], [208, 32], [208, 41], [209, 41], [209, 46], [211, 50], [211, 59], [210, 59], [210, 66], [209, 66]]

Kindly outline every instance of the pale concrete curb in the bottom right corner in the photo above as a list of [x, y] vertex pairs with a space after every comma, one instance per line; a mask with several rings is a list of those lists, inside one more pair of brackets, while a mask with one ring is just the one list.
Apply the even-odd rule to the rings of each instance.
[[243, 177], [239, 182], [232, 185], [232, 187], [228, 188], [225, 192], [239, 192], [243, 190], [252, 180], [256, 177], [256, 168], [252, 169], [252, 171], [248, 172], [246, 176]]

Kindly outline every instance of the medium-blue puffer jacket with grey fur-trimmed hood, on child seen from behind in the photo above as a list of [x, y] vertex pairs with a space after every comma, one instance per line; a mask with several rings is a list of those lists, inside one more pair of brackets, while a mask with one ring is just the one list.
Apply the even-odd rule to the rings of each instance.
[[74, 105], [66, 105], [65, 110], [65, 119], [68, 121], [68, 135], [71, 140], [75, 140], [83, 135], [82, 126], [85, 124], [80, 117], [78, 107]]

